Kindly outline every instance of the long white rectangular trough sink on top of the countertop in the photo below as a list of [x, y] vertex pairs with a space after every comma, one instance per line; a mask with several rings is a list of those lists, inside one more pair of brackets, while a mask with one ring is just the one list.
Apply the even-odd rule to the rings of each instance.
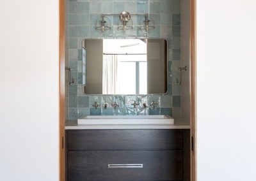
[[77, 119], [77, 124], [174, 124], [169, 115], [88, 115]]

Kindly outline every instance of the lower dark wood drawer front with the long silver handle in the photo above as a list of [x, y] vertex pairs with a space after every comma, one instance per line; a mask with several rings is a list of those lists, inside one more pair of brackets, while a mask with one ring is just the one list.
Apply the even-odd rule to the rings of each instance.
[[67, 177], [68, 181], [182, 180], [182, 156], [181, 150], [68, 151]]

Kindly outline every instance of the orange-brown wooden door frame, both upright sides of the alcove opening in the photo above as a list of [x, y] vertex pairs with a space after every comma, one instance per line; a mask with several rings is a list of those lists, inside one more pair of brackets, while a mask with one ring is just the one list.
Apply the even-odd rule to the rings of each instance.
[[[190, 126], [193, 138], [191, 181], [196, 181], [196, 0], [190, 0]], [[65, 181], [65, 0], [59, 0], [59, 159], [60, 181]]]

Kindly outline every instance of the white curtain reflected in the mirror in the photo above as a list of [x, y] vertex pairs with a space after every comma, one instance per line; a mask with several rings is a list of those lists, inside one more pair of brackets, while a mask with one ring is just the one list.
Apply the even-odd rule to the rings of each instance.
[[118, 94], [117, 55], [103, 55], [102, 93]]

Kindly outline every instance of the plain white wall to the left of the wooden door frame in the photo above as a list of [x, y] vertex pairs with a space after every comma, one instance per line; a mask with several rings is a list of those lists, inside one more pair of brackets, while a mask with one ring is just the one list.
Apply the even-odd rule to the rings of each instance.
[[0, 177], [58, 180], [58, 0], [0, 2]]

